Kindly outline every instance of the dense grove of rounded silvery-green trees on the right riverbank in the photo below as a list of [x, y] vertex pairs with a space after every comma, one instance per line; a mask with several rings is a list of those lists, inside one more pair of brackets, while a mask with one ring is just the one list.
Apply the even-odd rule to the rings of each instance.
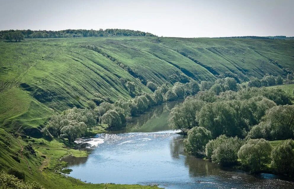
[[[242, 88], [187, 97], [172, 109], [173, 129], [188, 131], [185, 151], [250, 172], [293, 176], [294, 105], [281, 89]], [[267, 140], [286, 140], [273, 149]], [[269, 166], [270, 165], [270, 166]]]

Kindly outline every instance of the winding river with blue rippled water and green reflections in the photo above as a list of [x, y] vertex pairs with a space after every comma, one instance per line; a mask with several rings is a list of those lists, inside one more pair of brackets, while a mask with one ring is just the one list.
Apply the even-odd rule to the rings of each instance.
[[293, 182], [275, 175], [249, 175], [185, 154], [183, 136], [158, 131], [167, 129], [173, 106], [166, 104], [135, 118], [125, 130], [128, 133], [90, 139], [89, 157], [66, 159], [73, 170], [70, 176], [91, 183], [158, 184], [171, 189], [294, 188]]

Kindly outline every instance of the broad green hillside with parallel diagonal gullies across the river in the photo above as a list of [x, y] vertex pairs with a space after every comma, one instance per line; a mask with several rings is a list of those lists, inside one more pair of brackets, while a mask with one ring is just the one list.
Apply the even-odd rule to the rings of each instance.
[[[95, 49], [96, 48], [96, 49]], [[0, 123], [38, 127], [53, 110], [85, 107], [99, 93], [131, 99], [125, 83], [216, 79], [241, 81], [294, 69], [293, 40], [101, 37], [26, 39], [0, 43]]]

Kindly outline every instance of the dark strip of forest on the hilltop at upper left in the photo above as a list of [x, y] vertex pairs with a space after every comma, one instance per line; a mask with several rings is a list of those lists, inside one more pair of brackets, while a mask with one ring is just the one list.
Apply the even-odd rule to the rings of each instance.
[[103, 37], [103, 36], [155, 36], [152, 33], [123, 30], [123, 29], [106, 29], [106, 30], [2, 30], [0, 38], [21, 33], [24, 38], [79, 38], [79, 37]]

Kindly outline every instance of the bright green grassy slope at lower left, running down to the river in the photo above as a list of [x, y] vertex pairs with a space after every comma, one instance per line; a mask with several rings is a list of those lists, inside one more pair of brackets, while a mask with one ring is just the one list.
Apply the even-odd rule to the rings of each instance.
[[[18, 139], [0, 128], [0, 164], [4, 167], [14, 167], [23, 170], [26, 180], [36, 180], [45, 188], [50, 189], [103, 189], [104, 184], [86, 184], [72, 177], [65, 177], [62, 174], [55, 173], [56, 167], [60, 167], [62, 162], [60, 158], [68, 155], [76, 157], [85, 157], [85, 151], [69, 149], [60, 141], [46, 141], [44, 139], [29, 139], [33, 142], [33, 148], [36, 151], [36, 157], [33, 156], [24, 147], [25, 141]], [[41, 142], [41, 143], [40, 143]], [[44, 142], [44, 143], [42, 143]], [[26, 155], [30, 154], [30, 155]], [[46, 159], [41, 157], [45, 155]], [[17, 156], [20, 163], [12, 157]], [[110, 185], [109, 188], [115, 189], [151, 189], [157, 187], [140, 185]]]

